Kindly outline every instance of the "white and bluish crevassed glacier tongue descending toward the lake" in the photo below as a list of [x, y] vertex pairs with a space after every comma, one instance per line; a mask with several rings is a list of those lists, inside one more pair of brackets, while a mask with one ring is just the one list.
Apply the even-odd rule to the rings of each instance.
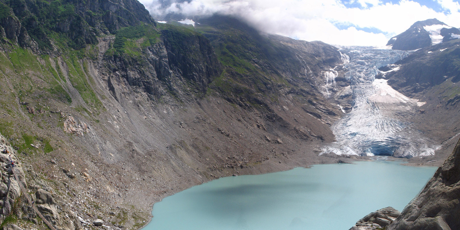
[[[408, 52], [350, 46], [340, 51], [350, 57], [344, 69], [351, 81], [352, 109], [331, 127], [337, 142], [324, 146], [322, 153], [433, 155], [435, 146], [407, 121], [420, 103], [391, 88], [386, 80], [375, 79], [380, 67], [397, 62]], [[333, 74], [325, 74], [326, 84]]]

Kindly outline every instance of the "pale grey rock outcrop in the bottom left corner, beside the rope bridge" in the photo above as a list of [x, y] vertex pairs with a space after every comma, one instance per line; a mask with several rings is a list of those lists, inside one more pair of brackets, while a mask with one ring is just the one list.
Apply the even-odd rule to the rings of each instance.
[[[37, 218], [37, 214], [34, 212], [27, 199], [22, 194], [21, 186], [26, 190], [36, 190], [35, 196], [29, 196], [35, 204], [38, 211], [49, 221], [54, 227], [61, 230], [79, 230], [81, 229], [80, 220], [77, 215], [71, 210], [66, 201], [60, 196], [53, 194], [53, 189], [49, 187], [46, 182], [40, 179], [37, 174], [27, 168], [23, 168], [23, 165], [15, 155], [15, 150], [11, 147], [6, 139], [0, 134], [0, 151], [8, 150], [8, 153], [0, 153], [0, 224], [9, 215], [15, 215], [17, 219], [29, 220], [34, 224], [39, 224], [40, 220]], [[15, 161], [14, 170], [17, 175], [16, 179], [12, 173], [10, 159]], [[32, 185], [28, 185], [25, 180], [25, 173], [28, 172], [28, 180]], [[37, 188], [40, 184], [42, 188]], [[22, 196], [22, 199], [18, 199]], [[19, 201], [19, 202], [17, 202]], [[13, 208], [14, 207], [14, 208]], [[3, 228], [4, 230], [23, 230], [15, 224], [7, 224]], [[27, 228], [29, 229], [29, 228]]]

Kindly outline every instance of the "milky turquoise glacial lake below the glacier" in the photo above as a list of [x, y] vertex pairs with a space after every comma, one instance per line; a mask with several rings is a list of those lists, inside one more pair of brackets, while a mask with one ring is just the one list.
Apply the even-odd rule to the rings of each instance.
[[400, 163], [219, 178], [155, 203], [143, 230], [348, 230], [377, 209], [402, 211], [437, 169]]

